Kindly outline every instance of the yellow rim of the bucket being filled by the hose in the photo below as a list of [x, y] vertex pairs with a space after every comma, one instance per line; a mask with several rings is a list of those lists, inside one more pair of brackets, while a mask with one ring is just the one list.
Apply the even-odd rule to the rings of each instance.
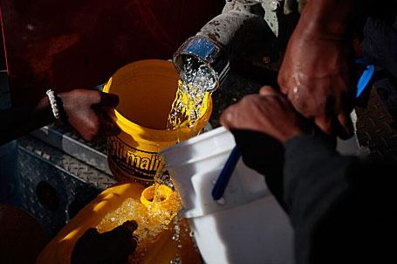
[[[156, 59], [140, 60], [140, 61], [136, 61], [136, 62], [127, 64], [127, 65], [119, 68], [115, 73], [113, 73], [112, 77], [117, 72], [123, 70], [123, 68], [125, 68], [125, 67], [130, 67], [132, 65], [150, 64], [150, 63], [161, 63], [163, 66], [173, 66], [173, 64], [170, 61], [165, 61], [165, 60], [156, 60]], [[103, 88], [103, 92], [109, 93], [109, 89], [110, 89], [110, 86], [112, 83], [112, 77], [110, 77], [109, 81], [105, 84], [105, 86]], [[207, 117], [209, 120], [209, 117], [212, 114], [212, 107], [213, 107], [212, 106], [212, 98], [209, 97], [207, 111], [204, 113], [204, 115], [202, 115], [199, 118], [199, 120], [197, 121], [196, 124], [202, 123], [202, 120], [207, 120]], [[166, 130], [166, 129], [159, 130], [159, 129], [152, 129], [152, 128], [140, 126], [140, 125], [128, 120], [116, 109], [113, 109], [113, 111], [110, 111], [109, 114], [112, 118], [115, 118], [117, 120], [116, 121], [117, 125], [127, 128], [129, 130], [144, 132], [144, 133], [141, 133], [142, 138], [144, 138], [144, 136], [142, 136], [142, 135], [150, 134], [151, 139], [153, 139], [153, 137], [154, 137], [158, 141], [165, 141], [164, 135], [169, 135], [169, 137], [175, 138], [177, 140], [186, 140], [186, 139], [190, 138], [192, 136], [192, 134], [194, 133], [194, 130], [191, 130], [188, 128], [179, 128], [179, 129], [175, 129], [175, 130]], [[205, 124], [204, 124], [204, 126], [205, 126]], [[186, 136], [186, 135], [188, 135], [188, 136]]]

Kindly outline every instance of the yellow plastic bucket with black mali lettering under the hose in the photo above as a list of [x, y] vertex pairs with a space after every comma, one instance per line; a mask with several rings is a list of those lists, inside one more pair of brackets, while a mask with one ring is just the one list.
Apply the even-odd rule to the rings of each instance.
[[193, 129], [166, 130], [178, 79], [172, 63], [144, 60], [122, 67], [105, 85], [104, 92], [120, 98], [110, 116], [122, 132], [108, 137], [109, 167], [119, 181], [152, 182], [161, 167], [158, 152], [197, 135], [208, 122], [210, 98]]

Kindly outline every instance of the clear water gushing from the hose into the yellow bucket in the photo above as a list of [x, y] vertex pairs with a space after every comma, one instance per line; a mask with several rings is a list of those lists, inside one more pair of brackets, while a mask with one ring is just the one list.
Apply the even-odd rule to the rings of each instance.
[[194, 128], [196, 121], [205, 113], [211, 92], [216, 85], [212, 70], [197, 65], [188, 58], [178, 81], [175, 100], [168, 114], [167, 130], [182, 127]]

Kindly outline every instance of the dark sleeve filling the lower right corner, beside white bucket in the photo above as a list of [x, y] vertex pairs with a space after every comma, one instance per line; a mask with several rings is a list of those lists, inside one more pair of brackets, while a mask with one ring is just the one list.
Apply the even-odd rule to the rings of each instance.
[[284, 208], [295, 230], [296, 263], [388, 258], [393, 250], [385, 238], [396, 231], [391, 168], [341, 156], [322, 137], [295, 137], [284, 148]]

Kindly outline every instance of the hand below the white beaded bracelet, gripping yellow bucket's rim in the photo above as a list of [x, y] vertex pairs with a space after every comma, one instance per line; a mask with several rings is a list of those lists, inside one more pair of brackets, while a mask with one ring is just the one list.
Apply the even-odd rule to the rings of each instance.
[[117, 95], [77, 89], [60, 93], [58, 96], [62, 100], [67, 122], [85, 140], [92, 140], [97, 135], [112, 135], [120, 132], [120, 128], [104, 111], [104, 108], [114, 108], [119, 104]]

